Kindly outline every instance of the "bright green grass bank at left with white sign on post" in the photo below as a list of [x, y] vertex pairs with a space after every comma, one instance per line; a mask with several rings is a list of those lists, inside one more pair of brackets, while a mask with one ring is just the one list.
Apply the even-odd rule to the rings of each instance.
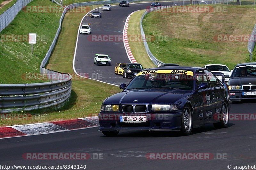
[[[29, 6], [52, 6], [51, 1], [34, 0]], [[61, 13], [20, 11], [12, 23], [1, 32], [0, 41], [0, 84], [37, 83], [43, 80], [26, 80], [26, 73], [40, 73], [40, 64], [48, 51], [59, 26]], [[33, 45], [25, 41], [8, 41], [6, 36], [36, 33]]]

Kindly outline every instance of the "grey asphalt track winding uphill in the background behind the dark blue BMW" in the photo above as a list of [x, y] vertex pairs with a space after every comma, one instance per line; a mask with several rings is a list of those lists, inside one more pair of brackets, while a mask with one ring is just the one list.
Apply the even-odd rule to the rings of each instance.
[[[185, 2], [185, 4], [189, 2]], [[182, 2], [175, 3], [182, 5]], [[161, 2], [161, 5], [173, 5], [173, 2]], [[77, 73], [87, 73], [86, 76], [104, 81], [107, 83], [120, 85], [129, 83], [130, 79], [125, 79], [121, 75], [115, 75], [116, 63], [131, 63], [126, 54], [123, 41], [95, 41], [92, 35], [113, 35], [122, 36], [126, 18], [133, 11], [146, 9], [150, 3], [130, 4], [129, 7], [112, 6], [111, 11], [102, 11], [101, 18], [91, 18], [91, 14], [84, 17], [82, 23], [90, 23], [92, 34], [79, 34], [76, 49], [75, 69]], [[97, 40], [99, 40], [97, 38]], [[112, 66], [94, 65], [95, 54], [108, 54], [111, 57]], [[143, 65], [143, 63], [141, 63]]]

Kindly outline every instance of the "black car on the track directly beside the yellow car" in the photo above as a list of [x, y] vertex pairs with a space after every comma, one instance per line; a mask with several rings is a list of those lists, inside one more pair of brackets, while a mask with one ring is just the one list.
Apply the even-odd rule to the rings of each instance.
[[141, 64], [138, 63], [129, 63], [124, 67], [124, 74], [123, 78], [133, 78], [136, 76], [141, 70], [143, 70], [143, 67]]

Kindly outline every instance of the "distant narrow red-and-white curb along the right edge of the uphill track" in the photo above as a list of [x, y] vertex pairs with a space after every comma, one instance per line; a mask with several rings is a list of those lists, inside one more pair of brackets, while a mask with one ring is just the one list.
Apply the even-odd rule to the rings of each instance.
[[[140, 11], [140, 10], [138, 10], [138, 11]], [[137, 12], [137, 11], [134, 11], [134, 12]], [[130, 14], [128, 15], [128, 17], [126, 18], [126, 21], [125, 21], [125, 24], [124, 24], [124, 31], [123, 31], [124, 47], [125, 47], [125, 50], [126, 50], [126, 54], [127, 54], [128, 58], [129, 58], [129, 60], [131, 61], [131, 63], [137, 63], [136, 59], [135, 59], [134, 56], [132, 55], [132, 51], [131, 51], [131, 49], [130, 49], [130, 45], [129, 45], [129, 42], [128, 42], [128, 35], [127, 35], [128, 26], [129, 26], [128, 22], [129, 22], [129, 20], [130, 20], [130, 18], [131, 18], [131, 15], [132, 15], [134, 12], [130, 13]]]

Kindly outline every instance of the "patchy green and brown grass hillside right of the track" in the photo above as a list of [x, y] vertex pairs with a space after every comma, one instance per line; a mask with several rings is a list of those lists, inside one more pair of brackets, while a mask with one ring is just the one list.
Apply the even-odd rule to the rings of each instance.
[[233, 69], [237, 63], [246, 62], [247, 42], [219, 42], [213, 37], [250, 35], [256, 23], [255, 7], [224, 7], [227, 12], [149, 13], [143, 28], [145, 34], [156, 37], [156, 41], [148, 42], [151, 52], [164, 63], [185, 66], [219, 63]]

